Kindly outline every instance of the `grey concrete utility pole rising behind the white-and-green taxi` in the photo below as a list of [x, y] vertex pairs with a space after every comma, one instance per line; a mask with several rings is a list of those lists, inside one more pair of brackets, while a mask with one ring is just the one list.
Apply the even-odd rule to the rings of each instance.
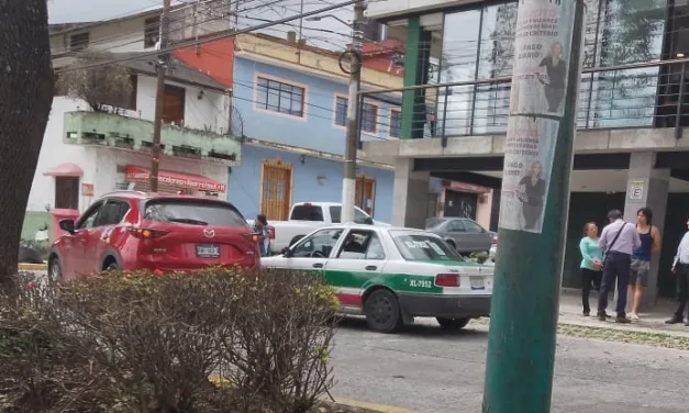
[[354, 3], [352, 24], [352, 45], [349, 46], [349, 97], [347, 99], [346, 143], [344, 158], [344, 179], [342, 181], [342, 222], [354, 221], [354, 198], [356, 192], [356, 150], [359, 141], [359, 89], [362, 88], [362, 22], [364, 20], [364, 0]]

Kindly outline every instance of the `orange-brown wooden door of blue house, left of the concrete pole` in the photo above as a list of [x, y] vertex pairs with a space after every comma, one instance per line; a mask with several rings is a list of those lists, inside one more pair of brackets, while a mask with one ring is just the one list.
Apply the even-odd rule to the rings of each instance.
[[292, 166], [264, 160], [260, 212], [270, 221], [287, 221], [292, 194]]

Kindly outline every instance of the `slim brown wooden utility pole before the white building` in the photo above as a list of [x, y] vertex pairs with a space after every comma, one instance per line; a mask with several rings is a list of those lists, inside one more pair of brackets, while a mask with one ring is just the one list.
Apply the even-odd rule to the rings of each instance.
[[[160, 13], [160, 40], [159, 48], [165, 51], [168, 47], [170, 33], [170, 0], [163, 0], [163, 12]], [[158, 55], [156, 69], [158, 71], [158, 82], [156, 86], [156, 113], [153, 124], [153, 150], [151, 153], [151, 191], [158, 191], [158, 170], [160, 169], [160, 130], [163, 127], [163, 107], [165, 105], [165, 72], [169, 64], [169, 53]]]

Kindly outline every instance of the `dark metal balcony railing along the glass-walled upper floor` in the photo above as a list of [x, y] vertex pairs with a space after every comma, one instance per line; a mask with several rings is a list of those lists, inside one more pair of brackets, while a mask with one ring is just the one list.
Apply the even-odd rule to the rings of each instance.
[[[577, 103], [577, 127], [674, 127], [676, 137], [689, 126], [689, 59], [585, 68]], [[362, 101], [399, 105], [413, 100], [413, 111], [382, 113], [378, 130], [391, 136], [422, 138], [503, 134], [510, 108], [511, 77], [423, 85], [362, 92]], [[391, 99], [391, 96], [396, 96]]]

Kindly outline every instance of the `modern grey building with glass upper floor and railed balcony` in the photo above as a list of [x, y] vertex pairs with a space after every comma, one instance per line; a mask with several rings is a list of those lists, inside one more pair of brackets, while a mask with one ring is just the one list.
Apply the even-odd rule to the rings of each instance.
[[[670, 295], [669, 265], [688, 212], [680, 202], [689, 191], [684, 131], [689, 125], [689, 4], [586, 4], [564, 283], [579, 286], [577, 244], [586, 222], [604, 224], [611, 208], [634, 222], [637, 209], [649, 206], [665, 247], [653, 261], [647, 295], [653, 300], [656, 287]], [[516, 12], [516, 1], [368, 4], [368, 16], [387, 23], [388, 35], [404, 42], [404, 87], [414, 87], [400, 90], [401, 139], [365, 142], [360, 152], [365, 159], [396, 165], [394, 224], [420, 225], [425, 202], [419, 192], [431, 177], [490, 187], [499, 204]]]

